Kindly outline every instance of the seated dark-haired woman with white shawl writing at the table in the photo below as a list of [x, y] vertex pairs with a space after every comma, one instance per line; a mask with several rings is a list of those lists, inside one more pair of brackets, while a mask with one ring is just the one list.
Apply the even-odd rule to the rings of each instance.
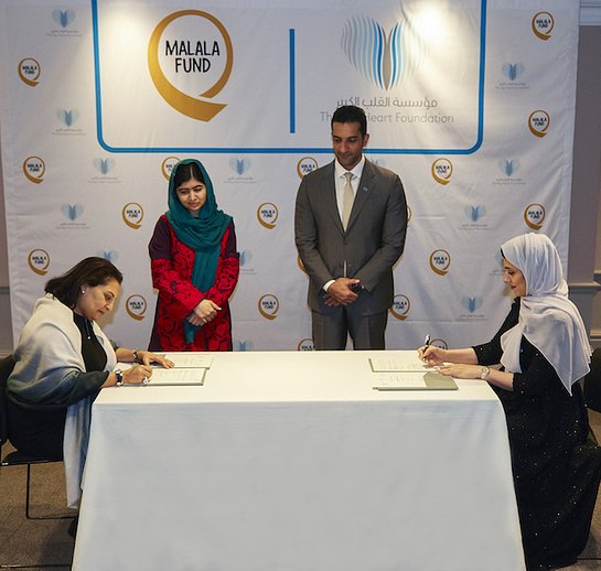
[[[7, 384], [9, 440], [23, 454], [65, 460], [67, 502], [75, 507], [87, 446], [92, 401], [101, 388], [140, 384], [151, 363], [171, 366], [148, 351], [116, 347], [96, 320], [112, 311], [121, 272], [104, 258], [82, 260], [46, 283], [23, 327]], [[117, 362], [135, 362], [126, 370]]]

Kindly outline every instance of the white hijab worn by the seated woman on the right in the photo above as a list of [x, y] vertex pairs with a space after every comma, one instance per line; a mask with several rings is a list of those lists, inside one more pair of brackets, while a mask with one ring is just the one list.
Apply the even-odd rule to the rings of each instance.
[[512, 238], [501, 250], [526, 280], [519, 321], [501, 337], [501, 364], [508, 371], [522, 373], [519, 345], [524, 335], [554, 366], [571, 395], [572, 385], [590, 370], [591, 347], [582, 317], [568, 299], [557, 248], [544, 234], [530, 233]]

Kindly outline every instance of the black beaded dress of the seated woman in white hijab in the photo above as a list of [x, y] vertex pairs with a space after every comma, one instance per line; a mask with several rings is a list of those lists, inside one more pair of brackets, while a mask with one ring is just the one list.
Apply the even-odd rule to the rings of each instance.
[[[518, 322], [519, 298], [477, 362], [501, 362], [501, 336]], [[587, 542], [601, 477], [601, 449], [588, 440], [578, 383], [570, 396], [551, 364], [522, 337], [513, 391], [492, 387], [507, 419], [522, 539], [528, 571], [571, 564]]]

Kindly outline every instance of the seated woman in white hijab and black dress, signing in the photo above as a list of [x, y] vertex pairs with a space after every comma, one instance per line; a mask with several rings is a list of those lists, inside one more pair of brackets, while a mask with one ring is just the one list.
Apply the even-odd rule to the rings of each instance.
[[557, 569], [576, 562], [584, 548], [601, 477], [601, 449], [588, 441], [578, 383], [589, 371], [591, 349], [552, 241], [525, 234], [501, 250], [503, 281], [516, 299], [498, 333], [484, 345], [430, 345], [418, 353], [440, 373], [484, 379], [497, 394], [527, 569]]

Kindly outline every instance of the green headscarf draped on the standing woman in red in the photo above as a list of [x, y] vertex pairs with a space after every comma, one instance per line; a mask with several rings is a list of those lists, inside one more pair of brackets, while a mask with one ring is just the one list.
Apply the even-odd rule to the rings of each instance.
[[[196, 164], [204, 179], [206, 187], [206, 202], [194, 217], [180, 202], [175, 188], [175, 174], [180, 166]], [[217, 208], [213, 183], [203, 164], [195, 159], [180, 161], [171, 171], [169, 179], [169, 211], [167, 219], [173, 227], [178, 239], [194, 250], [194, 268], [192, 270], [192, 283], [200, 291], [207, 291], [215, 283], [217, 262], [219, 261], [221, 243], [225, 229], [232, 220], [223, 211]], [[200, 327], [184, 321], [185, 341], [192, 343]]]

